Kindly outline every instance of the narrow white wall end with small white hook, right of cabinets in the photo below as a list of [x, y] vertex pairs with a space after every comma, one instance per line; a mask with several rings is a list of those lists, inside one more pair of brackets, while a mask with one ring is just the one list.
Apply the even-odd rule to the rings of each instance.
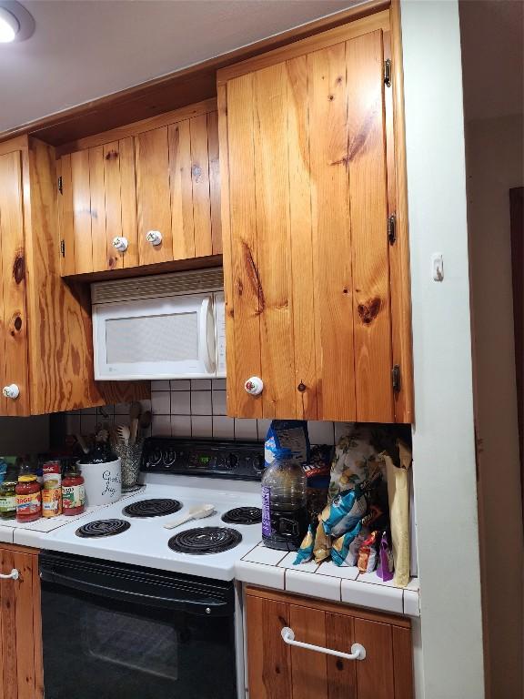
[[[402, 0], [421, 589], [418, 699], [484, 695], [459, 7]], [[444, 280], [430, 275], [433, 252]]]

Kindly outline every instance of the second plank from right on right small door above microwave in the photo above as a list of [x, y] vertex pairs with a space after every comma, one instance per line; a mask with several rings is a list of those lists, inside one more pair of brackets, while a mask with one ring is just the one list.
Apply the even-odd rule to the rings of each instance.
[[195, 255], [211, 255], [211, 201], [209, 197], [209, 153], [207, 150], [207, 115], [189, 120], [191, 132], [191, 180], [193, 182], [193, 218], [195, 220]]

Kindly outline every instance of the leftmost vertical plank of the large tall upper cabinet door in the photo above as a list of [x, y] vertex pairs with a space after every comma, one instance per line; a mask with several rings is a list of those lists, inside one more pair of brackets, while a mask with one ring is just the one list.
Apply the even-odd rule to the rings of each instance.
[[[231, 276], [232, 296], [228, 298], [226, 323], [227, 326], [235, 323], [235, 366], [231, 368], [227, 353], [227, 390], [236, 393], [233, 414], [244, 418], [262, 417], [261, 396], [251, 396], [244, 390], [249, 377], [261, 375], [253, 101], [252, 76], [242, 76], [228, 83], [231, 266], [226, 267], [225, 258], [224, 271], [225, 277]], [[230, 339], [229, 333], [227, 342]], [[231, 406], [229, 402], [229, 412]]]

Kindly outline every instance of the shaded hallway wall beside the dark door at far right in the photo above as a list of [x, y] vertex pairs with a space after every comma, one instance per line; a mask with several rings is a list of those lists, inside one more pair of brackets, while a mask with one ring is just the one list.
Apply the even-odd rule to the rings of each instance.
[[[466, 104], [466, 115], [468, 105]], [[509, 188], [524, 186], [522, 115], [466, 125], [479, 531], [491, 699], [522, 686], [522, 512]]]

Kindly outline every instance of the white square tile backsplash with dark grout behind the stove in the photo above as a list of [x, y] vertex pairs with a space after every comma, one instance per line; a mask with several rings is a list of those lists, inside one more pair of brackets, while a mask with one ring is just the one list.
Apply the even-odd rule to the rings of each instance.
[[[226, 380], [192, 379], [151, 382], [151, 401], [143, 409], [153, 412], [151, 434], [215, 440], [264, 441], [271, 420], [241, 420], [226, 415]], [[94, 432], [104, 421], [128, 421], [126, 404], [76, 410], [67, 415], [67, 431]], [[335, 444], [348, 429], [347, 422], [308, 422], [312, 444]]]

